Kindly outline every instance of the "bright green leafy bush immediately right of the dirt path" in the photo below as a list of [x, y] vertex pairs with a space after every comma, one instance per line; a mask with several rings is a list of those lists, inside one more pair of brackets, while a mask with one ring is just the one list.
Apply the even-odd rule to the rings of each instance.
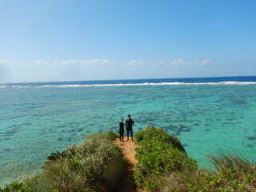
[[148, 190], [157, 190], [162, 180], [154, 179], [171, 171], [196, 169], [196, 161], [188, 158], [178, 138], [166, 134], [164, 130], [148, 127], [135, 134], [136, 149], [134, 179], [138, 186]]

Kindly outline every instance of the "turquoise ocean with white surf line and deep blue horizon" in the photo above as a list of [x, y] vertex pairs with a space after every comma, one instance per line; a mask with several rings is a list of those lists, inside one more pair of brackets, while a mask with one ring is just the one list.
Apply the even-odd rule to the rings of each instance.
[[2, 84], [0, 186], [87, 134], [118, 132], [127, 114], [135, 133], [156, 126], [177, 136], [198, 166], [209, 168], [212, 154], [256, 160], [256, 77]]

